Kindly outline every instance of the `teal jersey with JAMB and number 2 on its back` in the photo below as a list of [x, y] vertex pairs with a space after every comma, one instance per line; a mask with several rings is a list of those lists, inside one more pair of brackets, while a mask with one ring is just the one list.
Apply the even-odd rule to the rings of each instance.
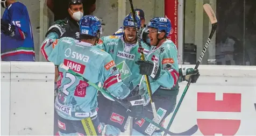
[[[41, 53], [54, 65], [64, 64], [76, 73], [103, 88], [120, 99], [130, 94], [129, 88], [121, 80], [110, 54], [87, 42], [64, 37], [51, 32], [41, 44]], [[59, 67], [59, 94], [55, 99], [55, 109], [59, 116], [69, 120], [81, 120], [94, 115], [97, 108], [97, 89], [86, 81]]]

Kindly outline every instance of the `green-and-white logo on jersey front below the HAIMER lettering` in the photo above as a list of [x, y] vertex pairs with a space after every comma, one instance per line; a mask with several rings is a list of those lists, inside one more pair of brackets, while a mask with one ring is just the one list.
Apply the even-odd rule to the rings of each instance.
[[125, 61], [120, 62], [117, 66], [117, 70], [121, 74], [121, 79], [125, 80], [125, 78], [132, 75], [130, 68], [127, 66]]

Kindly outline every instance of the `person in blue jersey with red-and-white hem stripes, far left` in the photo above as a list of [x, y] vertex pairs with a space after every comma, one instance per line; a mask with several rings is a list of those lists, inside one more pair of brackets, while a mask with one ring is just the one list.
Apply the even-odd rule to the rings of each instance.
[[30, 17], [24, 4], [1, 0], [5, 8], [1, 19], [2, 61], [34, 61], [34, 41]]

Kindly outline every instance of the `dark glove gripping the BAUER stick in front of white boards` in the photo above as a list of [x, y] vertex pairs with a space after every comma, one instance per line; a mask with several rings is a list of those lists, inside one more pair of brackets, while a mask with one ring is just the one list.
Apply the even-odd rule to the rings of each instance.
[[191, 77], [191, 83], [196, 83], [200, 76], [198, 69], [194, 70], [193, 68], [180, 68], [179, 74], [182, 76], [181, 81], [189, 81], [189, 78]]

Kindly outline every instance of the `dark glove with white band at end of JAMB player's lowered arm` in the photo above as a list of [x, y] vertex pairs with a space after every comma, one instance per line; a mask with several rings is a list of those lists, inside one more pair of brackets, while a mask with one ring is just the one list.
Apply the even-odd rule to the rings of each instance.
[[130, 102], [130, 110], [127, 110], [126, 113], [131, 117], [139, 117], [143, 114], [143, 99], [141, 95], [135, 95], [128, 98], [128, 102]]

